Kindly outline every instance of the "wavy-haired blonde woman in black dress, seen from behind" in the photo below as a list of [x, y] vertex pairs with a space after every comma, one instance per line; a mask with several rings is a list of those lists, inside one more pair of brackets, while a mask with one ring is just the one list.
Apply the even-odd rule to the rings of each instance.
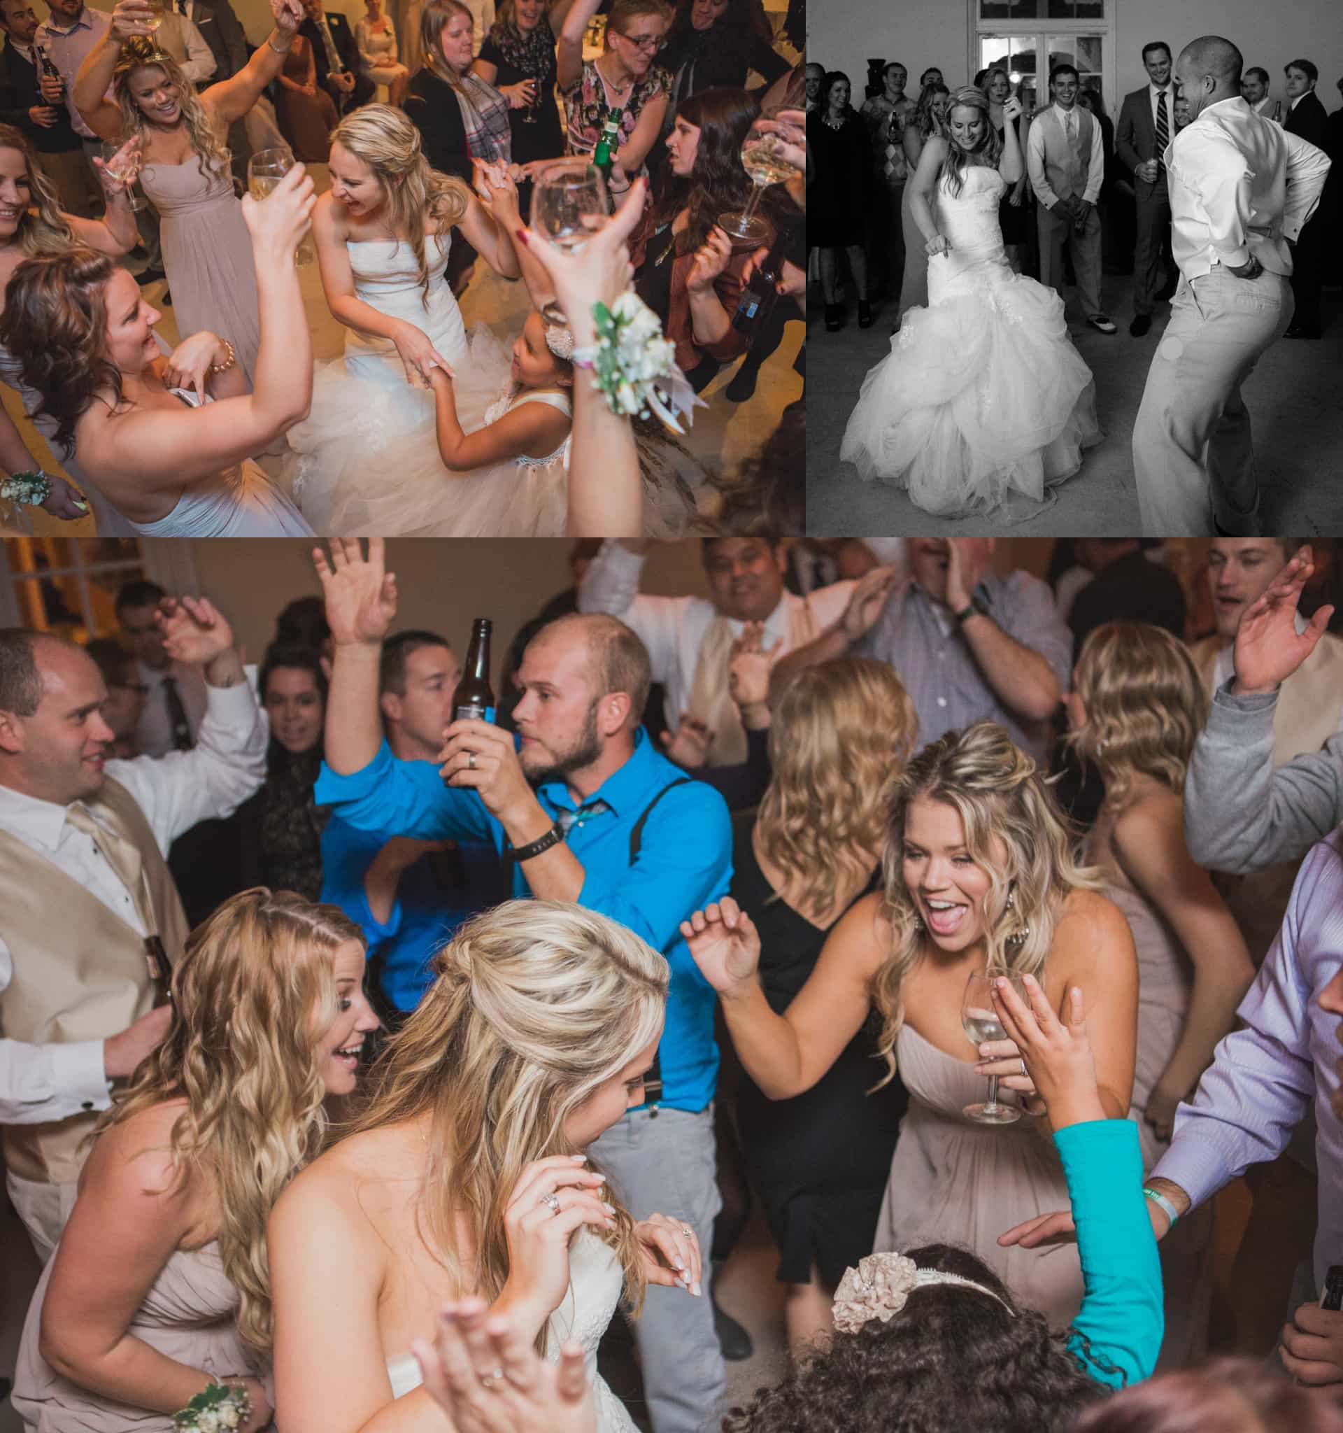
[[[878, 884], [886, 811], [915, 747], [918, 716], [893, 668], [842, 658], [800, 672], [772, 715], [773, 778], [753, 821], [739, 821], [732, 897], [756, 913], [760, 986], [782, 1015], [826, 937]], [[872, 1252], [876, 1215], [905, 1112], [879, 1078], [873, 1032], [859, 1030], [795, 1099], [770, 1101], [745, 1076], [737, 1134], [779, 1248], [795, 1354], [830, 1328], [843, 1271]]]

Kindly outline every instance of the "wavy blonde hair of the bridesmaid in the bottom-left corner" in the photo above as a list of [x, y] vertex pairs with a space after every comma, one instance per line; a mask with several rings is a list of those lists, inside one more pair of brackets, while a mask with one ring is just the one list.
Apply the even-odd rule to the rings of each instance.
[[[266, 1219], [322, 1148], [322, 1039], [336, 1016], [332, 957], [364, 933], [335, 906], [265, 887], [226, 900], [172, 973], [163, 1043], [94, 1128], [185, 1099], [169, 1151], [180, 1185], [196, 1169], [219, 1194], [219, 1257], [238, 1290], [238, 1331], [271, 1348]], [[318, 1012], [314, 1027], [314, 1010]]]

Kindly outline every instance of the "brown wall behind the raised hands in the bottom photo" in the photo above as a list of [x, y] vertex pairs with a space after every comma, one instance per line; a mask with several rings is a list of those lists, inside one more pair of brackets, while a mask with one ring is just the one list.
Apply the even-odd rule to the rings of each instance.
[[[547, 539], [392, 539], [387, 545], [387, 565], [397, 573], [397, 628], [441, 632], [465, 655], [471, 619], [493, 618], [497, 665], [518, 628], [570, 586], [570, 546]], [[321, 595], [311, 553], [311, 542], [281, 537], [192, 543], [199, 590], [229, 616], [238, 641], [248, 649], [248, 661], [261, 659], [285, 603]], [[644, 567], [643, 590], [703, 593], [700, 545], [654, 546]]]

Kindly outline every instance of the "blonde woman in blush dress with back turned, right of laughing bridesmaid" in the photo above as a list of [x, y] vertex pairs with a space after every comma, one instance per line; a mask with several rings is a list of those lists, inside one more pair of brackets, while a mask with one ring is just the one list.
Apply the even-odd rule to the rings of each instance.
[[[1193, 659], [1168, 632], [1111, 622], [1087, 638], [1065, 701], [1070, 739], [1105, 785], [1088, 857], [1138, 952], [1128, 1118], [1150, 1172], [1168, 1148], [1175, 1106], [1191, 1096], [1254, 979], [1234, 917], [1184, 844], [1181, 792], [1208, 699]], [[1207, 1351], [1211, 1214], [1204, 1205], [1161, 1241], [1164, 1369]]]

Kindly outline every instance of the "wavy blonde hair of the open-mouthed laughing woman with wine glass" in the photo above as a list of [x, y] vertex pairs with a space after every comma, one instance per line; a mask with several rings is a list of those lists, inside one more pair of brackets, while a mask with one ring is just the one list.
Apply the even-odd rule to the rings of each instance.
[[[975, 722], [925, 747], [896, 785], [882, 857], [882, 914], [892, 949], [873, 979], [873, 1000], [886, 1079], [895, 1073], [895, 1042], [905, 1023], [905, 979], [928, 943], [905, 884], [905, 820], [915, 801], [941, 801], [961, 817], [965, 848], [989, 878], [984, 924], [994, 969], [1042, 979], [1064, 901], [1075, 890], [1104, 886], [1098, 870], [1078, 863], [1075, 835], [1054, 792], [1002, 727]], [[1005, 853], [995, 850], [998, 841]]]

